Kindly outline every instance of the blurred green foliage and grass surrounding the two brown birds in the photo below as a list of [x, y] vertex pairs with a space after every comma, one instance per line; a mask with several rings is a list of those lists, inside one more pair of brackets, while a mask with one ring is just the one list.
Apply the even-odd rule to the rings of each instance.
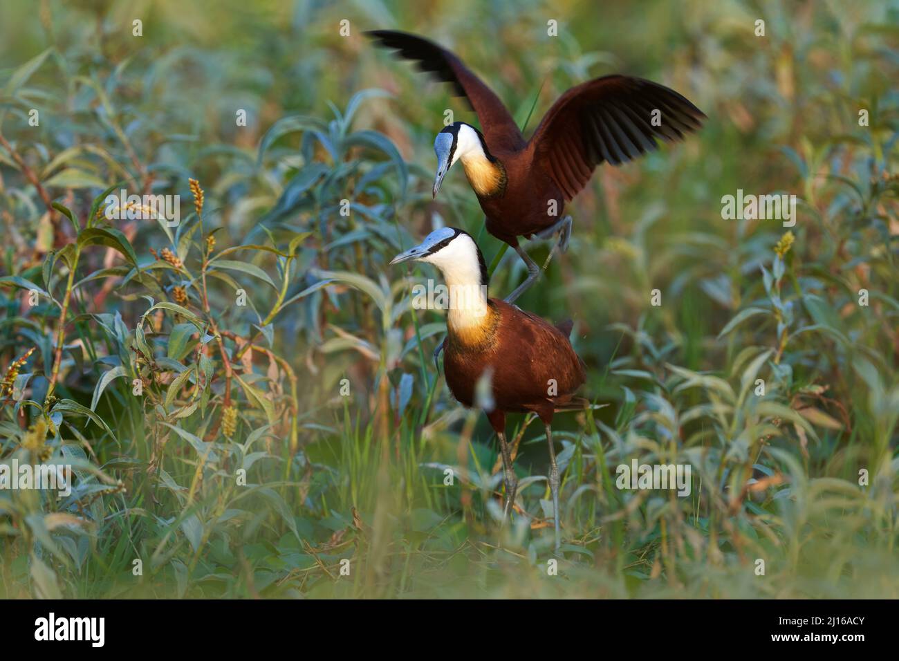
[[[0, 594], [899, 596], [897, 19], [893, 1], [0, 5], [0, 459], [75, 475], [66, 497], [0, 491]], [[492, 434], [434, 371], [441, 313], [410, 306], [434, 274], [387, 266], [440, 223], [500, 249], [460, 173], [431, 199], [444, 112], [475, 118], [360, 34], [390, 27], [457, 49], [518, 121], [536, 102], [531, 129], [611, 72], [709, 117], [601, 168], [519, 300], [574, 317], [583, 391], [611, 405], [558, 418], [559, 576], [542, 433], [512, 419], [522, 510], [499, 548]], [[106, 219], [120, 189], [179, 195], [180, 224]], [[797, 195], [797, 224], [722, 219], [738, 189]], [[504, 255], [492, 294], [522, 277]], [[631, 460], [690, 463], [691, 495], [615, 488]]]

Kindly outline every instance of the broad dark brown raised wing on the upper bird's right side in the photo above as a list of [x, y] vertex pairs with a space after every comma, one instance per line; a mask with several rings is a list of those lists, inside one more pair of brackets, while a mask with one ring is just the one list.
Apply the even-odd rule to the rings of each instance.
[[[653, 125], [653, 111], [661, 125]], [[603, 76], [562, 94], [530, 138], [533, 163], [571, 200], [603, 161], [621, 165], [699, 130], [706, 115], [672, 89], [642, 78]], [[659, 122], [657, 122], [659, 123]]]

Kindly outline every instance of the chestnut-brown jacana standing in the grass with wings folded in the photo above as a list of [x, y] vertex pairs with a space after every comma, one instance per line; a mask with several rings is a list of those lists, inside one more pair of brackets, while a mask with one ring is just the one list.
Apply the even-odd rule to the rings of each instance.
[[464, 406], [476, 406], [476, 386], [485, 373], [489, 374], [493, 403], [485, 413], [499, 437], [503, 455], [503, 523], [512, 512], [518, 488], [505, 438], [505, 416], [532, 412], [543, 421], [549, 445], [557, 550], [561, 539], [559, 475], [550, 424], [557, 410], [589, 406], [587, 400], [574, 397], [586, 376], [583, 362], [568, 341], [572, 322], [553, 326], [517, 306], [488, 298], [484, 255], [461, 229], [434, 230], [421, 245], [396, 255], [390, 264], [409, 260], [436, 266], [449, 289], [443, 371], [453, 397]]

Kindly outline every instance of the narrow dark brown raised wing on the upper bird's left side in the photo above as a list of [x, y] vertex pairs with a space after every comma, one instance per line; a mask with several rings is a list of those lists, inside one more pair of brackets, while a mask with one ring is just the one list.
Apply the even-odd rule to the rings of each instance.
[[395, 55], [413, 60], [422, 71], [452, 85], [456, 96], [464, 96], [477, 113], [487, 147], [511, 150], [525, 146], [521, 131], [503, 102], [449, 50], [407, 32], [373, 30], [365, 34], [378, 46], [396, 50]]

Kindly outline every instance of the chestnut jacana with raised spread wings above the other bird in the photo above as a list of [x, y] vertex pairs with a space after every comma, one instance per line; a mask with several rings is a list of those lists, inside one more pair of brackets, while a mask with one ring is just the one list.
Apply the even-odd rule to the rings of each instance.
[[437, 134], [433, 194], [462, 162], [494, 237], [512, 246], [528, 266], [528, 279], [506, 297], [517, 299], [539, 277], [539, 266], [518, 237], [560, 233], [565, 252], [571, 217], [565, 202], [583, 189], [601, 163], [621, 165], [657, 147], [656, 138], [680, 140], [699, 130], [706, 115], [672, 89], [642, 78], [602, 76], [562, 94], [525, 140], [503, 102], [456, 55], [406, 32], [366, 34], [378, 45], [414, 60], [423, 71], [453, 86], [477, 114], [481, 130], [457, 121]]

